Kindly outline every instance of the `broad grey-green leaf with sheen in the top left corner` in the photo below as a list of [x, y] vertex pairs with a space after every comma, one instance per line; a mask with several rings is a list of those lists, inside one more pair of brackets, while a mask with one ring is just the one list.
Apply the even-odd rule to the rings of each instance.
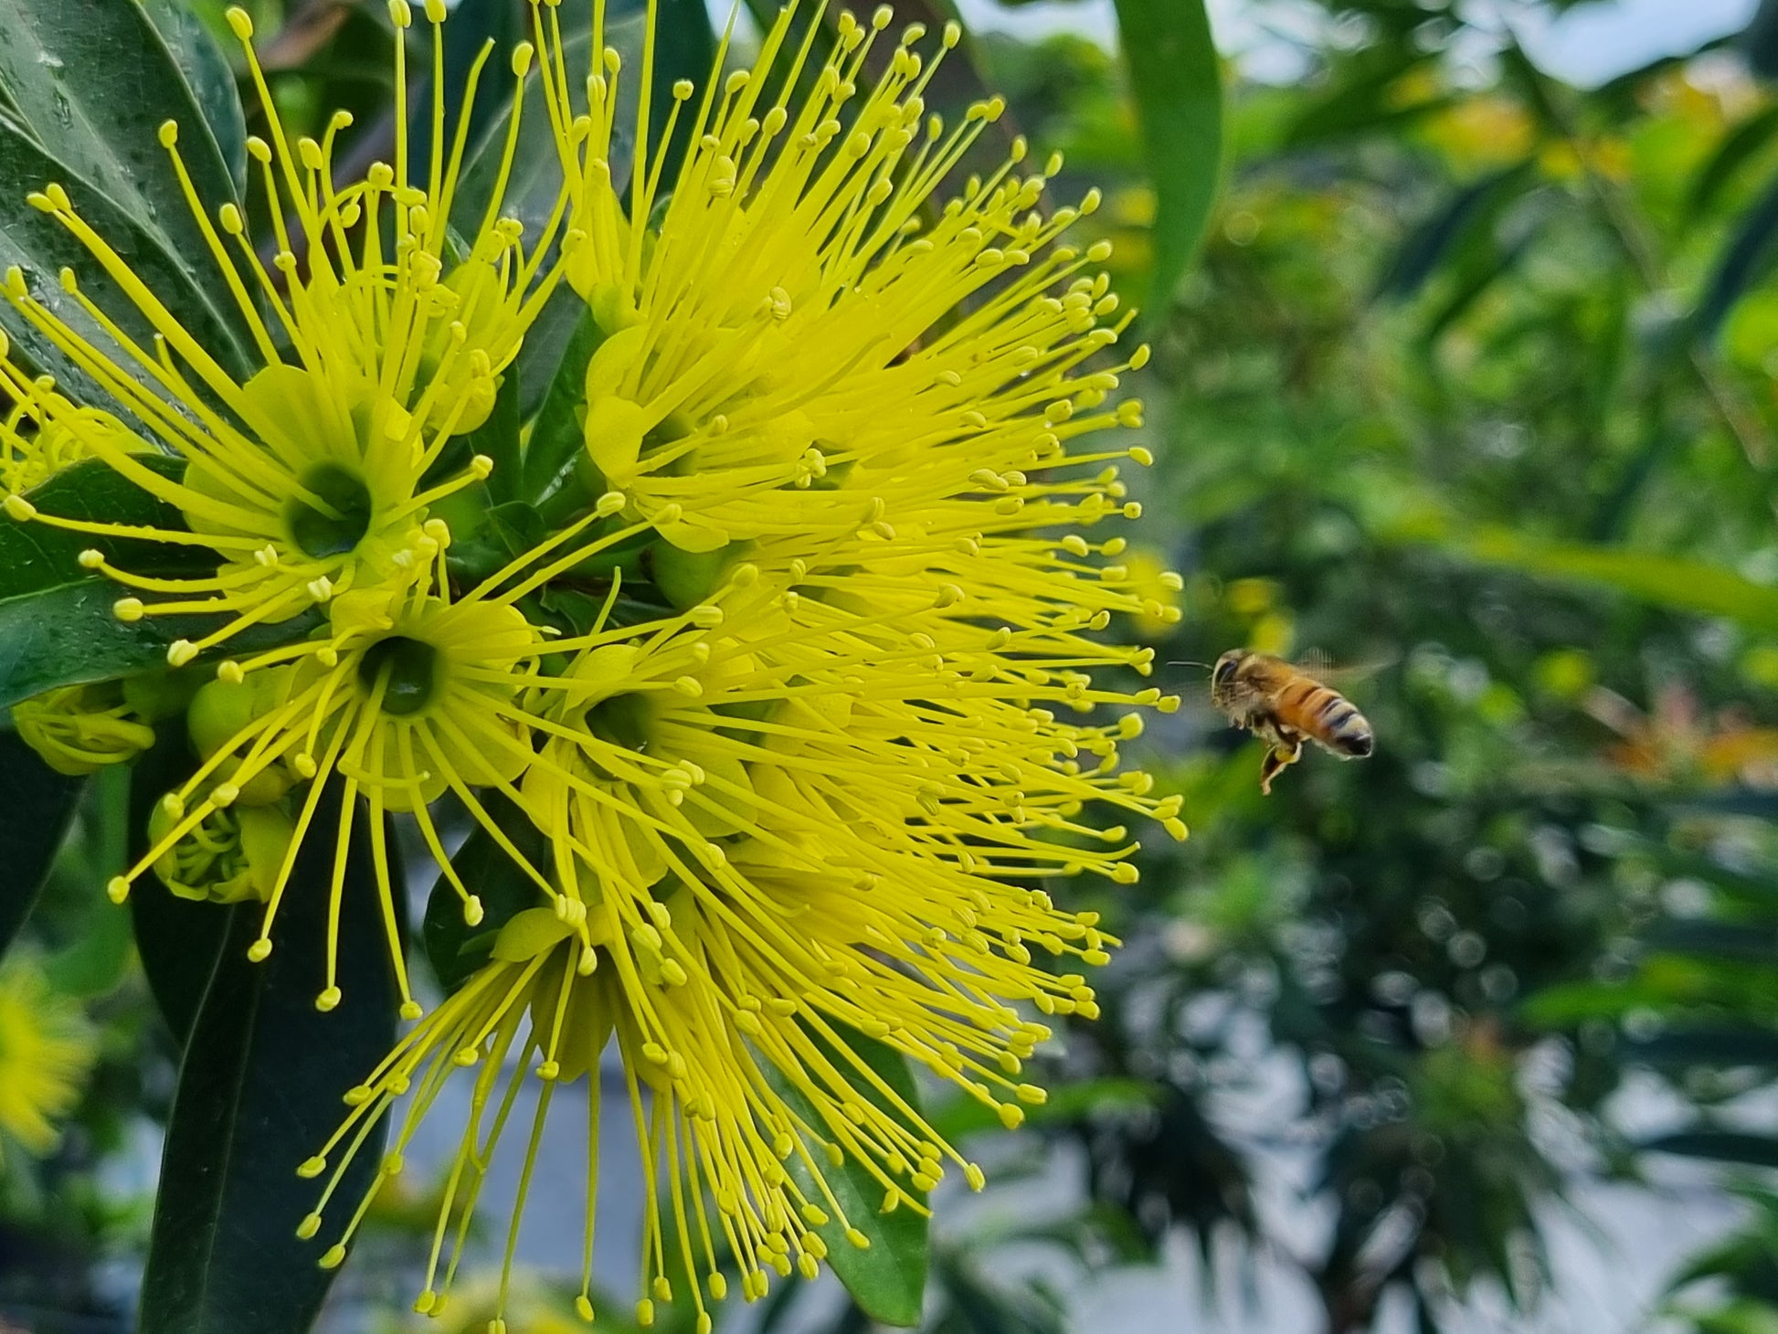
[[208, 210], [235, 201], [235, 181], [197, 94], [140, 2], [0, 0], [0, 87], [43, 149], [137, 219], [201, 288], [219, 286], [160, 126], [178, 123], [180, 155]]

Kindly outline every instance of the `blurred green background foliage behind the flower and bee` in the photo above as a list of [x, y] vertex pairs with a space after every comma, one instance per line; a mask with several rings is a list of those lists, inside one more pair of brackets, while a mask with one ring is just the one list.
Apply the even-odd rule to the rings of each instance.
[[[941, 1108], [999, 1185], [941, 1229], [930, 1330], [1102, 1329], [1083, 1313], [1143, 1272], [1175, 1286], [1133, 1330], [1543, 1329], [1563, 1231], [1634, 1274], [1627, 1314], [1550, 1327], [1778, 1330], [1778, 5], [1586, 89], [1515, 37], [1609, 7], [1218, 11], [1287, 75], [1225, 64], [1221, 194], [1145, 313], [1159, 464], [1127, 557], [1186, 576], [1159, 671], [1195, 703], [1149, 747], [1195, 836], [1095, 891], [1125, 950], [1037, 1133]], [[380, 5], [249, 9], [288, 117], [347, 107], [375, 157]], [[1005, 91], [1067, 155], [1058, 196], [1106, 190], [1120, 290], [1191, 258], [1152, 222], [1207, 158], [1143, 139], [1118, 52], [969, 53], [949, 96]], [[1262, 799], [1189, 665], [1232, 646], [1355, 669], [1376, 756]], [[116, 793], [76, 822], [9, 964], [37, 980], [0, 976], [0, 1083], [55, 1010], [9, 985], [80, 1012], [55, 1010], [84, 1090], [59, 1145], [0, 1149], [0, 1329], [34, 1334], [128, 1327], [178, 1060], [91, 893]], [[1606, 1204], [1638, 1197], [1702, 1201], [1710, 1240], [1627, 1258]], [[391, 1275], [430, 1211], [382, 1213], [334, 1329], [418, 1327]], [[549, 1309], [512, 1332], [567, 1329]], [[485, 1318], [468, 1291], [443, 1327]], [[789, 1286], [734, 1327], [868, 1323]]]

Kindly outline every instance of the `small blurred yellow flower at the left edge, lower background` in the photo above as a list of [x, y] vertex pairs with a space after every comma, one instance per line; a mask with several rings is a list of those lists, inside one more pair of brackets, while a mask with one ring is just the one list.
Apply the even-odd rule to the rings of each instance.
[[0, 964], [0, 1144], [36, 1156], [55, 1149], [55, 1122], [80, 1101], [96, 1055], [80, 1005], [28, 957], [9, 955]]

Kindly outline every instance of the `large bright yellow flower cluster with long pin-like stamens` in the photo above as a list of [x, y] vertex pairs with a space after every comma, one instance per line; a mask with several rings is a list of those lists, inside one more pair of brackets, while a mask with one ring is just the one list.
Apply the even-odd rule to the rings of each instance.
[[[444, 260], [462, 133], [446, 153], [441, 100], [425, 187], [407, 185], [404, 144], [393, 167], [338, 187], [332, 130], [292, 146], [267, 101], [272, 142], [252, 153], [274, 217], [297, 219], [290, 235], [279, 224], [283, 281], [260, 269], [238, 213], [222, 210], [220, 231], [204, 221], [265, 370], [231, 381], [55, 187], [39, 206], [130, 292], [164, 349], [107, 325], [128, 354], [117, 359], [16, 276], [7, 295], [185, 473], [144, 466], [116, 423], [41, 386], [25, 409], [34, 438], [69, 432], [180, 509], [190, 530], [155, 537], [219, 553], [213, 576], [156, 580], [92, 551], [91, 567], [132, 591], [117, 614], [220, 614], [172, 646], [180, 665], [247, 626], [320, 612], [313, 633], [224, 658], [197, 690], [201, 763], [112, 884], [121, 898], [156, 868], [178, 893], [215, 875], [212, 896], [263, 898], [251, 952], [263, 959], [324, 788], [345, 795], [336, 909], [364, 822], [418, 1025], [302, 1163], [324, 1181], [302, 1234], [327, 1226], [384, 1119], [395, 1142], [379, 1183], [400, 1170], [462, 1071], [471, 1113], [418, 1302], [439, 1313], [521, 1083], [539, 1080], [541, 1094], [509, 1270], [553, 1090], [587, 1080], [596, 1142], [597, 1069], [615, 1053], [651, 1183], [637, 1316], [649, 1323], [654, 1302], [674, 1298], [669, 1275], [685, 1274], [708, 1330], [724, 1266], [757, 1298], [772, 1275], [813, 1275], [832, 1247], [869, 1243], [836, 1172], [862, 1170], [882, 1209], [925, 1211], [953, 1169], [981, 1186], [871, 1051], [949, 1081], [1008, 1128], [1044, 1099], [1022, 1065], [1053, 1016], [1097, 1014], [1085, 969], [1115, 941], [1040, 886], [1133, 882], [1136, 838], [1120, 820], [1186, 832], [1177, 797], [1120, 758], [1141, 710], [1177, 699], [1129, 681], [1150, 672], [1150, 649], [1102, 633], [1117, 619], [1177, 619], [1179, 580], [1125, 564], [1115, 532], [1140, 516], [1118, 464], [1149, 455], [1117, 443], [1140, 409], [1113, 393], [1147, 350], [1113, 358], [1129, 315], [1099, 272], [1108, 251], [1069, 242], [1097, 194], [1044, 212], [1060, 164], [1031, 171], [1017, 144], [944, 196], [1001, 114], [981, 103], [948, 128], [928, 112], [955, 27], [891, 37], [884, 9], [802, 39], [791, 5], [750, 68], [722, 78], [724, 41], [702, 92], [674, 85], [651, 146], [653, 5], [640, 96], [626, 98], [605, 4], [589, 2], [594, 57], [578, 69], [557, 0], [532, 0], [564, 190], [528, 249], [491, 206], [468, 258]], [[402, 0], [391, 12], [405, 27]], [[443, 4], [427, 16], [441, 71]], [[247, 36], [238, 11], [231, 23]], [[530, 60], [521, 48], [516, 71]], [[400, 62], [396, 85], [405, 125]], [[669, 173], [676, 130], [690, 149]], [[185, 180], [176, 133], [164, 142]], [[626, 142], [619, 181], [613, 146]], [[194, 212], [206, 219], [196, 199]], [[452, 555], [459, 509], [446, 519], [441, 502], [491, 462], [441, 468], [446, 445], [487, 416], [564, 276], [597, 336], [585, 457], [549, 505], [567, 521], [466, 576]], [[140, 535], [5, 489], [16, 519]], [[485, 923], [485, 966], [421, 1017], [384, 815], [414, 820], [466, 923], [484, 927], [478, 886], [428, 809], [444, 793], [535, 904]], [[247, 820], [254, 809], [281, 816]], [[332, 955], [331, 941], [324, 1010], [341, 1003]], [[589, 1320], [594, 1186], [576, 1302]], [[373, 1195], [348, 1201], [324, 1265], [343, 1259]], [[505, 1284], [496, 1330], [501, 1309]]]

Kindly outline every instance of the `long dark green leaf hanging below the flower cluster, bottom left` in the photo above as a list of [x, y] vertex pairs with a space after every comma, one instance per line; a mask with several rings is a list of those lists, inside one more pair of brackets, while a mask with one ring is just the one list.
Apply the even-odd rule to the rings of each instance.
[[[332, 806], [332, 815], [327, 808]], [[338, 818], [338, 802], [322, 804]], [[363, 822], [359, 822], [363, 827]], [[340, 987], [322, 989], [332, 841], [309, 840], [279, 909], [277, 948], [247, 960], [263, 907], [229, 909], [228, 939], [192, 1026], [167, 1124], [142, 1277], [140, 1334], [306, 1334], [332, 1281], [324, 1242], [297, 1236], [322, 1181], [297, 1167], [345, 1113], [343, 1094], [395, 1037], [395, 978], [368, 840], [347, 859]], [[155, 893], [144, 884], [137, 893]], [[329, 1236], [379, 1169], [380, 1129], [345, 1174]]]

